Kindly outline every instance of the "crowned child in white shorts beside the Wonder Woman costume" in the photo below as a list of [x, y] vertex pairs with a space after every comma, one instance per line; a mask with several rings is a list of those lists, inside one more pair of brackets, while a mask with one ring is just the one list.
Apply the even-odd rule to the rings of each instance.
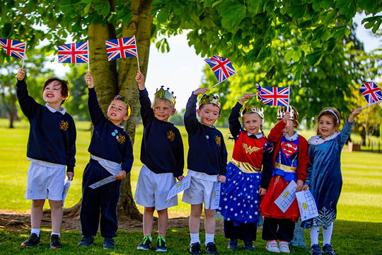
[[[226, 181], [227, 151], [224, 137], [213, 125], [220, 117], [220, 101], [217, 96], [205, 95], [209, 89], [193, 91], [185, 111], [185, 129], [188, 133], [187, 168], [191, 176], [190, 188], [183, 193], [183, 202], [191, 205], [190, 253], [200, 254], [199, 227], [204, 203], [204, 228], [206, 252], [217, 254], [214, 244], [215, 211], [210, 209], [210, 198], [216, 181]], [[195, 109], [197, 96], [202, 95], [199, 109]], [[196, 110], [196, 111], [195, 111]], [[200, 123], [196, 114], [200, 117]]]

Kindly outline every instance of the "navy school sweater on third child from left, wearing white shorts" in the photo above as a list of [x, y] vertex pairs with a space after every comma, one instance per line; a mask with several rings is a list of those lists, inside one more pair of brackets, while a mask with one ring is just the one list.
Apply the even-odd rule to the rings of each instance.
[[173, 123], [158, 120], [151, 108], [146, 89], [139, 90], [144, 135], [141, 145], [141, 162], [156, 174], [183, 175], [185, 158], [183, 140]]

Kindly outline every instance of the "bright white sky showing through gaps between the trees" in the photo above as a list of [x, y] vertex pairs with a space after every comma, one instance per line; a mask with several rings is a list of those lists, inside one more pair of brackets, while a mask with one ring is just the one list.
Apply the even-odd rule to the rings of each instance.
[[[364, 42], [366, 52], [382, 48], [382, 38], [376, 38], [371, 35], [371, 30], [366, 30], [360, 25], [364, 17], [364, 14], [357, 14], [354, 18], [354, 22], [359, 24], [357, 38]], [[176, 96], [175, 108], [181, 110], [185, 108], [192, 91], [201, 84], [202, 70], [206, 62], [204, 57], [196, 55], [194, 47], [188, 46], [186, 33], [168, 38], [168, 43], [170, 52], [165, 53], [156, 50], [154, 43], [151, 43], [145, 84], [151, 99], [154, 98], [156, 89], [162, 85], [170, 88]], [[50, 64], [59, 77], [64, 77], [65, 73], [69, 72], [69, 67], [64, 67], [62, 64], [57, 62]]]

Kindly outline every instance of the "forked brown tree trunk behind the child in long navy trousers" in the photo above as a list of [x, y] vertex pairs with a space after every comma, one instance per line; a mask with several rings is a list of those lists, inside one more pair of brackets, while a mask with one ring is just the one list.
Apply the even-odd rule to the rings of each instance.
[[[149, 49], [151, 38], [151, 26], [153, 17], [150, 16], [152, 0], [133, 0], [131, 9], [132, 20], [122, 28], [122, 38], [135, 35], [137, 51], [139, 54], [139, 66], [146, 76], [149, 64]], [[137, 75], [137, 58], [127, 57], [120, 59], [118, 74], [117, 61], [108, 61], [105, 48], [105, 40], [115, 39], [115, 28], [107, 24], [91, 24], [88, 27], [89, 57], [91, 74], [94, 79], [94, 87], [97, 91], [98, 101], [103, 113], [107, 113], [108, 106], [115, 95], [125, 96], [132, 105], [132, 114], [125, 124], [125, 130], [129, 134], [134, 145], [135, 122], [139, 112], [139, 93], [135, 77]], [[139, 159], [135, 159], [139, 160]], [[117, 205], [119, 215], [125, 215], [132, 219], [142, 220], [142, 215], [137, 209], [132, 196], [130, 174], [121, 183], [120, 200]], [[81, 200], [72, 208], [64, 210], [65, 215], [79, 215]]]

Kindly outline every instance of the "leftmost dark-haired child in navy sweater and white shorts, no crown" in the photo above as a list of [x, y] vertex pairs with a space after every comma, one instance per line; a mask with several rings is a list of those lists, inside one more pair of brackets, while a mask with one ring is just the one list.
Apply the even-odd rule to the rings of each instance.
[[40, 225], [45, 199], [49, 200], [52, 218], [50, 248], [61, 249], [59, 229], [62, 223], [62, 192], [65, 166], [69, 180], [74, 176], [76, 159], [76, 126], [61, 105], [68, 98], [68, 82], [52, 77], [45, 81], [42, 98], [45, 106], [28, 95], [25, 70], [18, 70], [16, 92], [21, 111], [30, 123], [27, 157], [30, 166], [25, 198], [32, 200], [30, 237], [21, 244], [40, 244]]

